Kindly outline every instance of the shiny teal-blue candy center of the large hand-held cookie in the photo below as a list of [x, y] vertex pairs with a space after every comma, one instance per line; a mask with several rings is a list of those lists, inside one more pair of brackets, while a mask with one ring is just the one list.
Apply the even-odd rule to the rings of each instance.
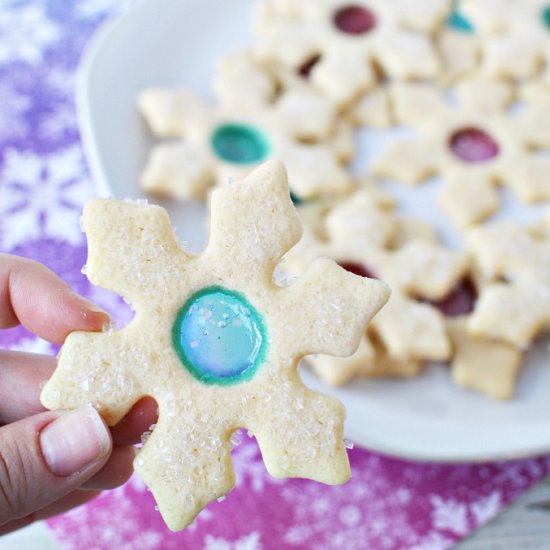
[[172, 340], [185, 368], [206, 384], [250, 380], [267, 347], [258, 312], [242, 294], [219, 286], [204, 288], [187, 300]]

